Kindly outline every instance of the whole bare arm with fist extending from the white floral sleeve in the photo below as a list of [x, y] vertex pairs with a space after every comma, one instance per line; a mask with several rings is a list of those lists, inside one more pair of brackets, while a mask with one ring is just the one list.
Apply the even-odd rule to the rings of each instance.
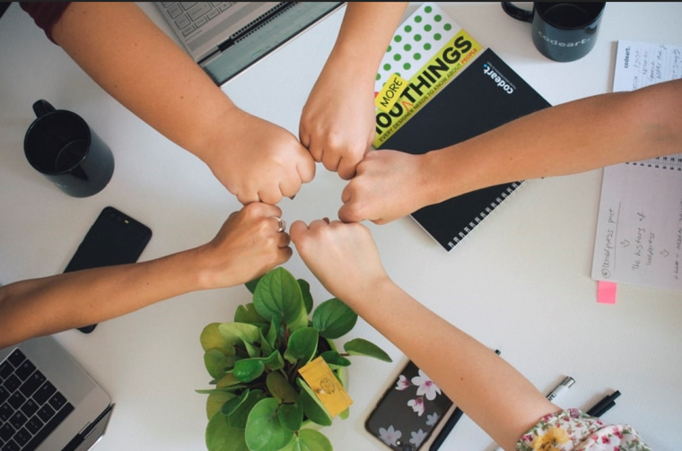
[[[485, 345], [392, 282], [363, 224], [296, 221], [291, 234], [325, 288], [405, 352], [504, 449], [513, 449], [542, 416], [561, 410]], [[433, 343], [450, 345], [433, 353]]]

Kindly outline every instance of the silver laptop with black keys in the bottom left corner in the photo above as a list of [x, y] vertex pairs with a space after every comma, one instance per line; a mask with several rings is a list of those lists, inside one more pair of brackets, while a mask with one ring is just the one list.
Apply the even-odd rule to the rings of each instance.
[[114, 404], [51, 336], [0, 350], [0, 449], [85, 451]]

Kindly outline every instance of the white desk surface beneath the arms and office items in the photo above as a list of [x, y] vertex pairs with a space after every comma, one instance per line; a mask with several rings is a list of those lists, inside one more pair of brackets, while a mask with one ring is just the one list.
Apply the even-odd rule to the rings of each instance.
[[[159, 19], [152, 4], [143, 7]], [[443, 7], [552, 104], [610, 91], [618, 39], [682, 45], [679, 3], [608, 4], [596, 48], [573, 63], [540, 56], [529, 24], [512, 20], [499, 3]], [[268, 56], [224, 91], [242, 108], [297, 134], [342, 14]], [[0, 20], [0, 61], [2, 282], [62, 272], [109, 204], [153, 229], [143, 260], [203, 244], [240, 208], [201, 161], [101, 91], [18, 4]], [[24, 159], [31, 104], [40, 98], [81, 114], [109, 143], [116, 170], [100, 194], [68, 197]], [[564, 407], [588, 408], [619, 389], [623, 395], [604, 419], [629, 422], [651, 447], [671, 451], [682, 441], [682, 293], [620, 286], [616, 305], [596, 302], [590, 265], [600, 181], [601, 170], [529, 181], [450, 254], [410, 218], [370, 226], [391, 276], [429, 308], [502, 350], [543, 392], [566, 375], [575, 377], [559, 403]], [[344, 185], [319, 165], [315, 180], [281, 204], [284, 219], [337, 217]], [[328, 299], [295, 252], [285, 267], [311, 282], [317, 302]], [[210, 322], [232, 320], [234, 308], [249, 299], [243, 287], [197, 292], [103, 323], [90, 335], [57, 334], [117, 403], [97, 449], [205, 449], [205, 395], [194, 389], [207, 387], [210, 377], [199, 333]], [[386, 448], [364, 431], [363, 421], [406, 359], [362, 321], [352, 334], [380, 344], [394, 362], [354, 359], [351, 416], [325, 433], [337, 450], [379, 451]], [[465, 418], [442, 449], [493, 447]]]

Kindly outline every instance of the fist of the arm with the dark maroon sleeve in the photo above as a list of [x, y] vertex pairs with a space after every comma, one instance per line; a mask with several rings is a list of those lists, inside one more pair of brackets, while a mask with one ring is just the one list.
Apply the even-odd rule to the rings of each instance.
[[239, 108], [230, 121], [230, 134], [216, 140], [204, 160], [241, 204], [277, 204], [315, 177], [310, 153], [281, 126]]

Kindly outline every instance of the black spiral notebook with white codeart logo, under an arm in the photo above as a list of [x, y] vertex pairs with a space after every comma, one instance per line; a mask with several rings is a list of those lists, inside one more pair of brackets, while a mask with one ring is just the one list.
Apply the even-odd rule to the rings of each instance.
[[[470, 58], [450, 82], [377, 148], [421, 154], [459, 143], [549, 106], [492, 49], [486, 48]], [[412, 217], [450, 251], [522, 183], [520, 180], [489, 186], [452, 197], [413, 212]]]

